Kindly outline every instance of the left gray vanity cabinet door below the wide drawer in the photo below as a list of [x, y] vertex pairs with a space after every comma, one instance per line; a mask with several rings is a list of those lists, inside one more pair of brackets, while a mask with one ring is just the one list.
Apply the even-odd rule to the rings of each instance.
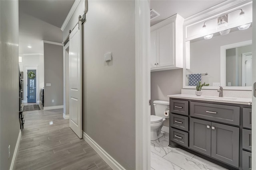
[[211, 122], [190, 118], [189, 147], [211, 156]]

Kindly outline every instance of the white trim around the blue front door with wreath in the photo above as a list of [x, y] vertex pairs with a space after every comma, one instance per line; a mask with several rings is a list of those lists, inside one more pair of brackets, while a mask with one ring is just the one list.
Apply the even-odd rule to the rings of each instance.
[[[24, 81], [26, 82], [24, 83], [25, 88], [23, 87], [24, 90], [24, 99], [23, 103], [28, 103], [28, 70], [36, 70], [36, 86], [38, 86], [38, 65], [24, 65], [23, 66], [24, 70], [25, 70], [25, 75], [23, 76]], [[36, 103], [39, 102], [38, 100], [38, 88], [36, 87]]]

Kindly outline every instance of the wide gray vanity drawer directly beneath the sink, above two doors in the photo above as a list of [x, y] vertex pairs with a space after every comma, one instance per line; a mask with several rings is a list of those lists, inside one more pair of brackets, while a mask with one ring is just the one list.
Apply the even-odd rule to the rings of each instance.
[[240, 107], [190, 102], [190, 115], [207, 120], [240, 125]]

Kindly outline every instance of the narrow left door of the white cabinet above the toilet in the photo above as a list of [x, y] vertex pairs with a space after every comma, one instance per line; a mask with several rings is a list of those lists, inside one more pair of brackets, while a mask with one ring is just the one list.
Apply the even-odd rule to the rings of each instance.
[[156, 30], [150, 33], [150, 67], [156, 67]]

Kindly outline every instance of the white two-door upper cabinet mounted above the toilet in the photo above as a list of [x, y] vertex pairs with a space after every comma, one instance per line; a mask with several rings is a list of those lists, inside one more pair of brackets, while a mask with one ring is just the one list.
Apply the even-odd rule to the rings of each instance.
[[183, 22], [176, 14], [151, 27], [151, 71], [183, 68]]

